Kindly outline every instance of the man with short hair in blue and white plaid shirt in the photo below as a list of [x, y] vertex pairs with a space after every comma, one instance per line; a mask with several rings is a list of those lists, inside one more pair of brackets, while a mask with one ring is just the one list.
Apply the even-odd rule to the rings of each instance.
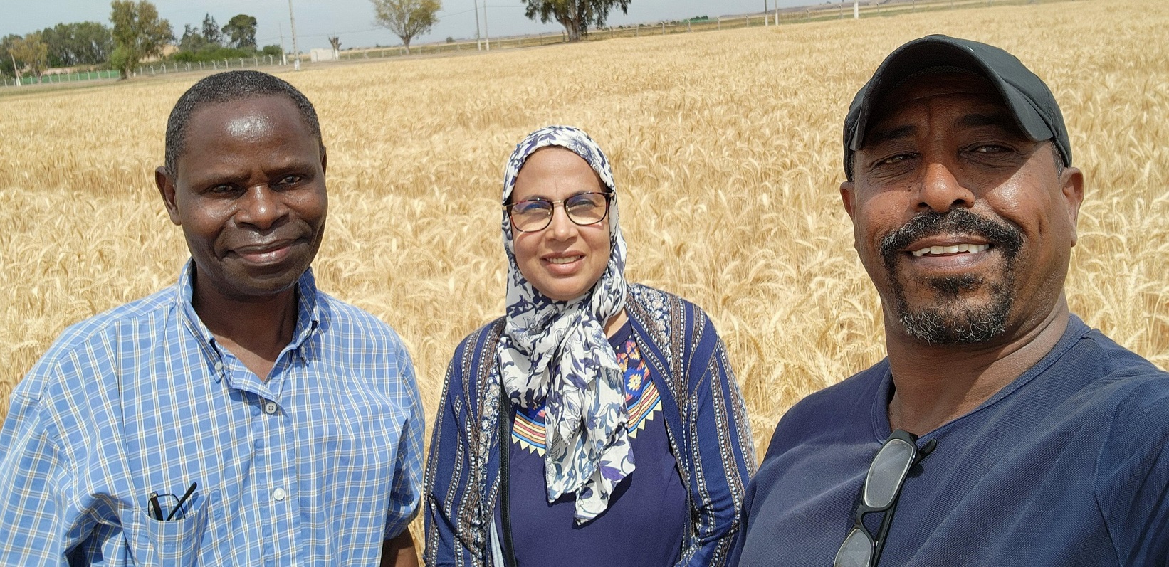
[[409, 354], [317, 290], [312, 104], [256, 71], [171, 112], [155, 181], [191, 261], [69, 327], [0, 431], [0, 565], [417, 565]]

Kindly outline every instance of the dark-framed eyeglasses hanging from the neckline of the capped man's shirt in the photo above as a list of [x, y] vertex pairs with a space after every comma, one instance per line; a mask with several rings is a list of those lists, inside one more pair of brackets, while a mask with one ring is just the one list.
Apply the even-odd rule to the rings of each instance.
[[[929, 440], [919, 449], [918, 436], [904, 429], [893, 431], [885, 440], [872, 464], [869, 465], [869, 473], [865, 475], [865, 483], [860, 489], [856, 521], [852, 523], [852, 530], [836, 552], [832, 567], [877, 567], [909, 469], [936, 448], [938, 440]], [[866, 514], [874, 512], [885, 513], [876, 538], [862, 521]]]

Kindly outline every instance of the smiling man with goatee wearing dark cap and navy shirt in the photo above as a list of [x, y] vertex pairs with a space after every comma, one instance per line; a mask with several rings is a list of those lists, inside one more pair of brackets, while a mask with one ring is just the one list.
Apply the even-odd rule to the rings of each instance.
[[1084, 178], [1043, 81], [911, 41], [844, 166], [888, 355], [780, 421], [738, 565], [1169, 563], [1169, 374], [1068, 312]]

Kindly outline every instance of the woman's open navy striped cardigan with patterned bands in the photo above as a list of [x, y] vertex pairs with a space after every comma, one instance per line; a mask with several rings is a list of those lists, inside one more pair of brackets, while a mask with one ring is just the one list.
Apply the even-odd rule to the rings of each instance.
[[[625, 311], [662, 395], [670, 447], [689, 492], [691, 523], [678, 565], [722, 566], [756, 465], [726, 348], [706, 313], [677, 296], [631, 284]], [[447, 369], [426, 470], [424, 559], [430, 567], [493, 563], [499, 492], [494, 362], [503, 323], [496, 319], [463, 339]]]

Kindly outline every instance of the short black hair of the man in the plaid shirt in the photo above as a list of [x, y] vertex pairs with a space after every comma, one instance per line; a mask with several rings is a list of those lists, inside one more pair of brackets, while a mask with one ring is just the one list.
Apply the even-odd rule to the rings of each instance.
[[296, 87], [267, 72], [217, 72], [203, 77], [192, 85], [187, 92], [179, 97], [179, 102], [174, 103], [171, 118], [166, 120], [166, 174], [173, 179], [177, 173], [179, 155], [182, 155], [184, 150], [186, 150], [184, 146], [186, 145], [187, 123], [191, 122], [191, 116], [196, 110], [212, 104], [274, 95], [285, 96], [296, 104], [297, 109], [300, 110], [300, 118], [309, 126], [309, 131], [317, 137], [317, 144], [324, 147], [317, 110]]

